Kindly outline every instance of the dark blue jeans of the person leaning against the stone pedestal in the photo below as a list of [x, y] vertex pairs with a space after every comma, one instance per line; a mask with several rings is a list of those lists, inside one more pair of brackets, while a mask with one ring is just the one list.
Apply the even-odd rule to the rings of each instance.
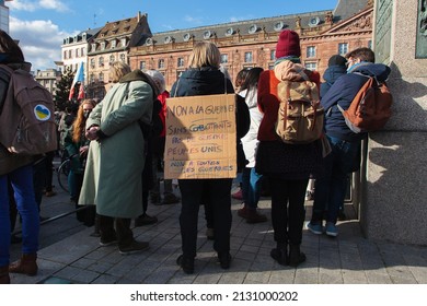
[[314, 185], [314, 203], [311, 221], [321, 222], [327, 208], [326, 222], [336, 223], [339, 205], [344, 203], [347, 175], [358, 154], [360, 141], [347, 142], [327, 136], [332, 152], [324, 160], [324, 176], [318, 177]]

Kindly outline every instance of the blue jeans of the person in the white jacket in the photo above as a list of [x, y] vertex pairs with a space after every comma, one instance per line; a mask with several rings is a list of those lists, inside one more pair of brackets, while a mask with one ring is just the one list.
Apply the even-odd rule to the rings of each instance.
[[263, 175], [257, 174], [255, 168], [244, 168], [242, 172], [242, 192], [244, 204], [249, 209], [256, 209], [261, 197]]

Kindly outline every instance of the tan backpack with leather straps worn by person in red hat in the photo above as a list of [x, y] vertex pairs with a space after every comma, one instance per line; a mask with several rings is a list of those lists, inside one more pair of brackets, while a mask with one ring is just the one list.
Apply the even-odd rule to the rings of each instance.
[[322, 136], [324, 109], [320, 104], [319, 89], [301, 73], [304, 81], [280, 81], [277, 94], [280, 106], [276, 133], [285, 143], [303, 144]]

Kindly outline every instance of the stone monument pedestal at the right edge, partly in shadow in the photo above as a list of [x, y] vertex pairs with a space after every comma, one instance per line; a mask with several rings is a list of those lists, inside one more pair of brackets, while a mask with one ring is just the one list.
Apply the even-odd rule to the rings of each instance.
[[365, 143], [356, 180], [356, 205], [368, 239], [427, 245], [426, 5], [426, 0], [374, 4], [376, 61], [392, 69], [388, 84], [394, 104], [385, 129], [370, 133]]

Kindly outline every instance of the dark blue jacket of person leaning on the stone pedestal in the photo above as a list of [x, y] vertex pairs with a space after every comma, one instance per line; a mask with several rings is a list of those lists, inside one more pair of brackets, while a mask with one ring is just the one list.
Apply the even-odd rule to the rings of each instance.
[[346, 125], [337, 104], [348, 109], [353, 98], [368, 78], [377, 76], [378, 81], [385, 81], [390, 74], [390, 68], [382, 63], [361, 62], [353, 67], [351, 72], [338, 78], [327, 93], [322, 97], [321, 104], [325, 109], [325, 132], [327, 136], [348, 142], [356, 142], [365, 138], [366, 133], [354, 133]]

